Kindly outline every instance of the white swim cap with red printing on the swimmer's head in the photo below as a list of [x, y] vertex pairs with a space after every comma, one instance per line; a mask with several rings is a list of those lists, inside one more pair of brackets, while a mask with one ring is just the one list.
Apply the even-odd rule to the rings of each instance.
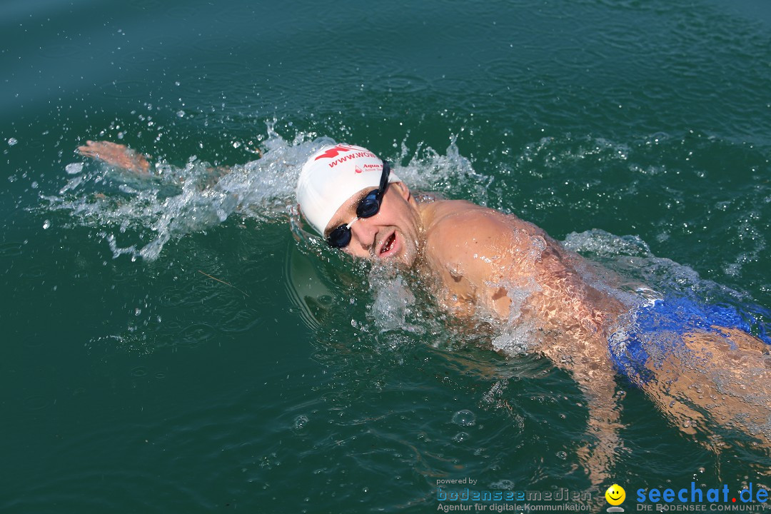
[[[325, 146], [311, 155], [297, 180], [297, 202], [305, 219], [322, 236], [335, 212], [366, 187], [380, 185], [383, 162], [366, 148]], [[391, 173], [389, 182], [399, 182]]]

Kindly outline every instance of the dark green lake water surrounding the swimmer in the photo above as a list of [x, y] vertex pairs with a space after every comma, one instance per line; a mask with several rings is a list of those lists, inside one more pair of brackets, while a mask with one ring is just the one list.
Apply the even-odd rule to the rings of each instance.
[[[463, 478], [594, 511], [618, 482], [629, 510], [769, 485], [767, 453], [711, 452], [620, 380], [593, 487], [564, 371], [490, 351], [288, 210], [330, 137], [663, 291], [769, 307], [767, 2], [10, 0], [0, 28], [3, 512], [434, 512]], [[86, 139], [167, 178], [68, 168]], [[203, 163], [237, 167], [204, 190]]]

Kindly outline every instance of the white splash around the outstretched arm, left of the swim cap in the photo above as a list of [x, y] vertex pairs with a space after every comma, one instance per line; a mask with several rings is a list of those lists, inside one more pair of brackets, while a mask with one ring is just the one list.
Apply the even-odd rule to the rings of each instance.
[[[113, 257], [155, 260], [163, 246], [185, 233], [223, 223], [233, 213], [258, 220], [285, 219], [295, 202], [300, 166], [330, 139], [298, 136], [288, 142], [268, 126], [260, 160], [217, 169], [195, 157], [183, 168], [157, 163], [150, 175], [110, 166], [70, 163], [71, 175], [55, 196], [43, 197], [51, 210], [69, 211], [76, 224], [99, 228]], [[130, 230], [140, 241], [121, 246]]]

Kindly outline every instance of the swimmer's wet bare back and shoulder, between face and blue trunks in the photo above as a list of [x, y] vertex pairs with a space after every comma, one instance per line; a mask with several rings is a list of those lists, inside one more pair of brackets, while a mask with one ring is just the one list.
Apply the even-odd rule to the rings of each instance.
[[555, 313], [588, 315], [587, 308], [577, 309], [586, 291], [574, 270], [574, 256], [544, 230], [463, 200], [436, 201], [422, 208], [426, 261], [439, 273], [448, 306], [456, 313], [473, 314], [483, 306], [508, 319], [513, 288], [527, 295], [523, 314], [539, 317], [540, 323]]

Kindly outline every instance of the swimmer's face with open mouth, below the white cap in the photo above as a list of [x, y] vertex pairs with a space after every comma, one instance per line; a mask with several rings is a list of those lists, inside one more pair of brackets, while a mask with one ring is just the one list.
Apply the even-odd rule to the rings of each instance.
[[[325, 237], [356, 217], [356, 206], [371, 190], [361, 190], [342, 204], [327, 225]], [[394, 260], [412, 266], [418, 255], [423, 223], [414, 200], [410, 200], [409, 188], [404, 183], [390, 183], [378, 213], [359, 218], [351, 225], [351, 242], [342, 250], [354, 257]]]

